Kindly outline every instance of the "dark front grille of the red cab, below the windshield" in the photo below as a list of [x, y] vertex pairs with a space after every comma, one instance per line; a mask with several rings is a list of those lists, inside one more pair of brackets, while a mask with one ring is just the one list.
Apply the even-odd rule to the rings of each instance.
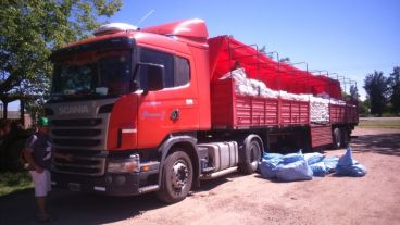
[[105, 170], [108, 117], [52, 118], [51, 138], [57, 152], [71, 154], [73, 161], [53, 158], [57, 173], [101, 176]]

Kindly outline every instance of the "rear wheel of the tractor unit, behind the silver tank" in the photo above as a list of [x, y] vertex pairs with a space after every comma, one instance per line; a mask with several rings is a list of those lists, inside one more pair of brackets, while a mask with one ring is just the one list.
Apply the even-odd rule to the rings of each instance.
[[240, 164], [239, 170], [243, 174], [252, 174], [259, 167], [261, 161], [261, 147], [254, 138], [245, 145], [245, 162]]

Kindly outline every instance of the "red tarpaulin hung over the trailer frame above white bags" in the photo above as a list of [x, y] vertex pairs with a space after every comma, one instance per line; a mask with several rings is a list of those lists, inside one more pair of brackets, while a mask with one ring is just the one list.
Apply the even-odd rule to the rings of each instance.
[[239, 62], [246, 70], [248, 78], [259, 79], [275, 90], [292, 93], [328, 93], [330, 98], [341, 99], [340, 83], [322, 75], [279, 63], [258, 52], [251, 46], [241, 43], [229, 36], [210, 38], [211, 80], [216, 82]]

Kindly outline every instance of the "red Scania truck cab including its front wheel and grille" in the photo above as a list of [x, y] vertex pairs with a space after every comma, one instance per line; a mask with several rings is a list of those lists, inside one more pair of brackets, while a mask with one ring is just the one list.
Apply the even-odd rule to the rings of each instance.
[[111, 24], [52, 53], [46, 113], [54, 151], [74, 159], [53, 159], [54, 186], [159, 190], [171, 202], [198, 180], [196, 133], [210, 129], [208, 32], [199, 20], [171, 27], [159, 35]]

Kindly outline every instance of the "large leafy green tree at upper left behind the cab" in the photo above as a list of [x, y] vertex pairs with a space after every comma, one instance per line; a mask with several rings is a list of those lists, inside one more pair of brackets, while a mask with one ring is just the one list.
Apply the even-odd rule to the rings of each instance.
[[89, 36], [121, 5], [121, 0], [2, 0], [0, 100], [35, 95], [36, 102], [46, 95], [51, 50]]

